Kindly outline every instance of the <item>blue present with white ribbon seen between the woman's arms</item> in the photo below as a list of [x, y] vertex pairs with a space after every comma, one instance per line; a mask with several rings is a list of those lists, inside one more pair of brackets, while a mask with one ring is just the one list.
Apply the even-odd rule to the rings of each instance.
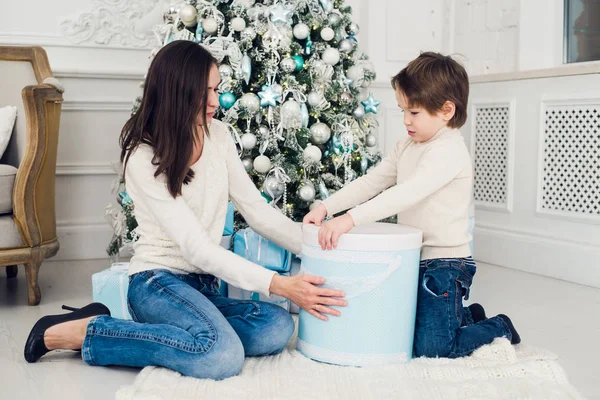
[[233, 238], [233, 251], [248, 261], [272, 271], [289, 272], [292, 253], [263, 238], [251, 228], [238, 231]]

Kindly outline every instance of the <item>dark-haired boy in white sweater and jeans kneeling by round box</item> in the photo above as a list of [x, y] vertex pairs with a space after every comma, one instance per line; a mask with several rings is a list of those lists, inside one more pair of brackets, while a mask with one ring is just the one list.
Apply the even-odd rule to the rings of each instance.
[[467, 73], [450, 57], [427, 52], [394, 76], [392, 87], [409, 138], [367, 175], [319, 204], [304, 223], [321, 225], [327, 216], [363, 203], [321, 226], [319, 243], [329, 250], [354, 226], [393, 214], [423, 231], [416, 357], [462, 357], [497, 337], [519, 343], [506, 315], [487, 319], [479, 304], [462, 306], [475, 275], [467, 224], [473, 172], [458, 130], [467, 119]]

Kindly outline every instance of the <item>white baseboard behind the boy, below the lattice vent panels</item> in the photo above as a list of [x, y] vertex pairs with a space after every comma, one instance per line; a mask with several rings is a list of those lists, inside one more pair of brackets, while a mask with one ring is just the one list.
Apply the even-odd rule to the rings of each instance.
[[480, 224], [474, 236], [479, 261], [600, 288], [600, 246]]

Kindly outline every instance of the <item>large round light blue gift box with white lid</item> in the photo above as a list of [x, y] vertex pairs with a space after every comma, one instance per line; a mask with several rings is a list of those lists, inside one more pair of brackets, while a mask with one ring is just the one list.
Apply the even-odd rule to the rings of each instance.
[[323, 287], [343, 290], [347, 307], [328, 321], [300, 310], [298, 350], [317, 361], [369, 366], [412, 358], [420, 230], [366, 224], [342, 235], [334, 250], [321, 250], [319, 227], [303, 226], [302, 272], [322, 276]]

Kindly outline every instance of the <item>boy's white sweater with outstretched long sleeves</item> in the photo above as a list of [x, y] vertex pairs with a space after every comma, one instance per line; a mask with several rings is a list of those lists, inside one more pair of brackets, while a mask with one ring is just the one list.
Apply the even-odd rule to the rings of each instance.
[[460, 131], [445, 127], [424, 143], [399, 141], [377, 167], [323, 205], [333, 215], [366, 202], [349, 211], [356, 226], [397, 214], [398, 223], [423, 231], [422, 260], [468, 257], [472, 168]]

